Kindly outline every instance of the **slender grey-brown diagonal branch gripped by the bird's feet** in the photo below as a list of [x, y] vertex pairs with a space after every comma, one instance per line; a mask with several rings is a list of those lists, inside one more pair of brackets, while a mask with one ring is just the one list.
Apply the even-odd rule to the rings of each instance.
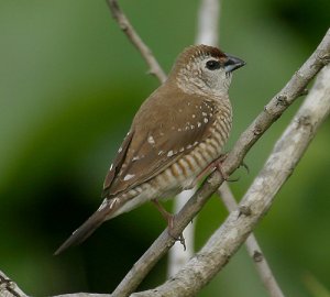
[[[292, 77], [287, 85], [270, 101], [253, 123], [240, 136], [233, 150], [222, 164], [226, 174], [232, 174], [243, 162], [244, 156], [261, 135], [282, 116], [282, 113], [305, 90], [307, 84], [330, 59], [330, 30], [300, 69]], [[221, 185], [223, 178], [215, 172], [200, 189], [189, 199], [180, 212], [175, 217], [173, 235], [179, 237], [185, 227], [200, 211], [202, 206]], [[114, 296], [128, 296], [134, 292], [152, 267], [170, 249], [174, 240], [168, 235], [167, 229], [156, 239], [150, 249], [134, 264], [123, 280], [114, 290]]]

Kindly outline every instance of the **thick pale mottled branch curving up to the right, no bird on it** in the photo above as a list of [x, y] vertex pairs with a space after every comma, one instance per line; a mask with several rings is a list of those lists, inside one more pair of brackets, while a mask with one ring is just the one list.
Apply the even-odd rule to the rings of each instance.
[[329, 81], [330, 66], [327, 66], [305, 103], [275, 144], [239, 209], [230, 213], [202, 250], [164, 285], [132, 294], [132, 297], [195, 296], [229, 262], [272, 206], [275, 195], [292, 175], [318, 127], [329, 114]]

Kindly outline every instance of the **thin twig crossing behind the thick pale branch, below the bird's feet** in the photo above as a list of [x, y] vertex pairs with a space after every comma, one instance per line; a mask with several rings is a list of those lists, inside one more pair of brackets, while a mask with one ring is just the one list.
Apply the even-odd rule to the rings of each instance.
[[[235, 201], [235, 198], [228, 185], [228, 183], [223, 183], [221, 187], [218, 189], [218, 193], [221, 197], [221, 200], [226, 208], [232, 212], [238, 209], [238, 204]], [[284, 297], [284, 294], [278, 286], [275, 276], [273, 275], [271, 267], [264, 257], [264, 254], [256, 241], [256, 238], [253, 233], [249, 235], [249, 238], [245, 241], [245, 246], [248, 250], [249, 255], [253, 258], [254, 265], [256, 267], [256, 271], [260, 275], [260, 278], [262, 279], [265, 288], [267, 289], [267, 293], [271, 297]]]

